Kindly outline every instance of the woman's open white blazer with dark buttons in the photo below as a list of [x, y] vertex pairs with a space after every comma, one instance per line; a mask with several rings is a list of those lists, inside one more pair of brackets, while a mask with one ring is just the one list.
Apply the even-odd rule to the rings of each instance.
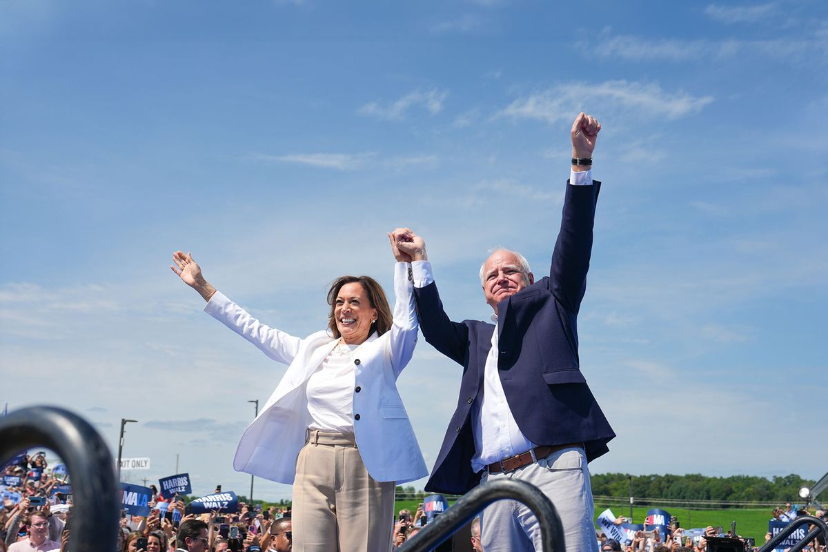
[[[414, 353], [417, 318], [411, 264], [394, 266], [393, 324], [371, 334], [351, 353], [354, 359], [354, 436], [365, 468], [377, 481], [404, 483], [428, 475], [426, 463], [397, 391], [397, 377]], [[261, 324], [216, 291], [205, 312], [262, 350], [289, 364], [256, 420], [238, 442], [233, 468], [259, 478], [292, 484], [296, 457], [310, 425], [307, 381], [336, 346], [328, 330], [301, 339]], [[357, 419], [359, 415], [359, 420]]]

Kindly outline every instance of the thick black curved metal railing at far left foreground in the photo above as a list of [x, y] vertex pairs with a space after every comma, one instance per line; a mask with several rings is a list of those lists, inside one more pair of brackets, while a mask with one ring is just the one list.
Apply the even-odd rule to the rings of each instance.
[[52, 406], [0, 418], [0, 464], [36, 446], [54, 450], [72, 478], [70, 552], [114, 552], [121, 505], [115, 463], [100, 434], [79, 415]]

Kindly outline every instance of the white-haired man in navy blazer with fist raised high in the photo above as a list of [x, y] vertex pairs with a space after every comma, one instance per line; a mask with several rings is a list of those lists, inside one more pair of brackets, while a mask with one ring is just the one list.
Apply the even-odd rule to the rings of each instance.
[[[598, 550], [586, 464], [615, 436], [580, 372], [576, 325], [600, 189], [590, 170], [599, 131], [585, 113], [572, 125], [572, 172], [549, 276], [535, 281], [526, 259], [505, 249], [481, 267], [494, 324], [452, 322], [425, 242], [409, 228], [394, 232], [411, 257], [426, 341], [463, 366], [457, 408], [426, 491], [463, 494], [498, 478], [531, 482], [554, 502], [566, 550], [578, 552]], [[494, 502], [481, 526], [486, 552], [541, 548], [537, 519], [519, 502]]]

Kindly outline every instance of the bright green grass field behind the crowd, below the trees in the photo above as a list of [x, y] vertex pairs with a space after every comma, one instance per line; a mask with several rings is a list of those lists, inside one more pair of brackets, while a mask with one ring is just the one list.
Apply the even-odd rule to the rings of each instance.
[[[394, 506], [394, 511], [400, 511], [404, 508], [416, 511], [416, 506], [420, 501], [408, 500], [397, 501]], [[633, 521], [638, 523], [647, 515], [647, 510], [659, 506], [633, 506]], [[661, 506], [663, 507], [663, 506]], [[629, 516], [629, 506], [609, 506], [600, 502], [595, 503], [595, 516], [609, 508], [613, 511], [615, 516]], [[739, 535], [745, 537], [753, 537], [756, 542], [761, 545], [765, 541], [765, 533], [768, 532], [768, 519], [770, 519], [770, 511], [768, 508], [758, 510], [748, 509], [728, 509], [728, 510], [687, 510], [686, 508], [663, 508], [670, 512], [672, 516], [678, 518], [682, 527], [692, 529], [694, 527], [706, 526], [722, 526], [724, 530], [730, 529], [730, 523], [736, 521], [736, 531]]]

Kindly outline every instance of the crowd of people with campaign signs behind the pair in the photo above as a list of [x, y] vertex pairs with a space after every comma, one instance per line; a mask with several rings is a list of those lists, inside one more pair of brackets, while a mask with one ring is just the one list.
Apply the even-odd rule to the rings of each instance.
[[[63, 473], [55, 474], [47, 469], [46, 455], [23, 455], [18, 463], [8, 464], [2, 475], [17, 478], [17, 487], [6, 487], [4, 507], [0, 509], [0, 552], [48, 552], [68, 550], [71, 538], [71, 495], [60, 492], [65, 484]], [[39, 473], [39, 475], [38, 475]], [[32, 478], [36, 476], [37, 478]], [[4, 478], [4, 481], [6, 479]], [[292, 545], [291, 510], [285, 506], [272, 506], [262, 511], [258, 505], [238, 504], [232, 514], [220, 511], [192, 514], [187, 512], [185, 501], [178, 497], [165, 498], [152, 485], [153, 495], [149, 502], [149, 516], [128, 516], [121, 519], [118, 534], [118, 550], [123, 552], [288, 552]], [[216, 491], [220, 491], [217, 488]], [[18, 494], [14, 503], [10, 495]], [[165, 508], [158, 507], [167, 502]], [[808, 511], [790, 502], [784, 507], [773, 508], [770, 521], [789, 522], [798, 516], [816, 516], [825, 520], [825, 511]], [[439, 515], [439, 514], [438, 514]], [[409, 510], [398, 512], [393, 522], [393, 550], [426, 526], [428, 516], [422, 504], [412, 514]], [[627, 521], [623, 517], [617, 524]], [[810, 530], [810, 529], [809, 529]], [[707, 538], [730, 536], [720, 527], [708, 526], [703, 535], [691, 535], [682, 529], [675, 518], [670, 521], [666, 535], [654, 528], [638, 530], [630, 542], [608, 538], [598, 531], [596, 540], [600, 552], [705, 552]], [[764, 542], [773, 535], [764, 535]], [[465, 550], [483, 552], [480, 541], [480, 518], [474, 518]], [[758, 550], [764, 543], [747, 543], [745, 550]], [[752, 546], [751, 546], [752, 545]], [[828, 552], [824, 535], [820, 535], [806, 552]]]

